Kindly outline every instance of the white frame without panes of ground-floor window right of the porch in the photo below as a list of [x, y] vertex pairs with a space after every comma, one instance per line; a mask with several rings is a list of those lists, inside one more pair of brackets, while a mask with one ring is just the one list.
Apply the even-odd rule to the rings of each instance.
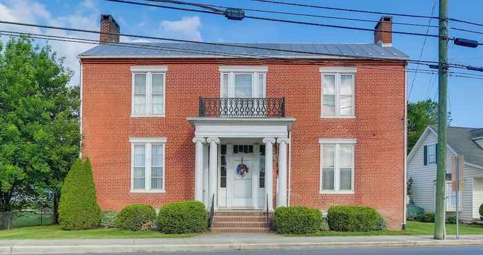
[[[355, 176], [355, 144], [357, 143], [357, 139], [319, 139], [320, 144], [320, 194], [354, 194], [354, 176]], [[323, 164], [323, 152], [322, 146], [323, 145], [335, 145], [334, 151], [334, 190], [322, 190], [322, 173], [324, 171], [324, 164]], [[340, 185], [340, 163], [339, 163], [339, 147], [341, 145], [352, 145], [352, 183], [351, 183], [351, 190], [339, 190]]]

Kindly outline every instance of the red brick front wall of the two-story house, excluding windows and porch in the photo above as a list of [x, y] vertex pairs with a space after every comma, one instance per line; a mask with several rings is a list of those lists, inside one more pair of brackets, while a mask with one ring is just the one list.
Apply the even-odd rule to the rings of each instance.
[[[319, 67], [327, 62], [301, 64], [215, 59], [83, 59], [82, 62], [82, 153], [92, 161], [97, 200], [103, 210], [121, 210], [131, 203], [160, 207], [172, 201], [193, 199], [195, 145], [191, 139], [194, 128], [186, 117], [197, 116], [199, 96], [219, 96], [220, 65], [264, 65], [268, 66], [266, 96], [285, 97], [286, 116], [296, 119], [290, 145], [290, 205], [320, 210], [327, 210], [331, 205], [367, 205], [384, 214], [391, 229], [401, 227], [404, 64], [331, 62], [334, 66], [357, 68], [356, 118], [321, 119]], [[130, 117], [132, 65], [168, 66], [165, 118]], [[130, 193], [129, 136], [167, 137], [166, 193]], [[319, 193], [319, 138], [357, 139], [355, 194]]]

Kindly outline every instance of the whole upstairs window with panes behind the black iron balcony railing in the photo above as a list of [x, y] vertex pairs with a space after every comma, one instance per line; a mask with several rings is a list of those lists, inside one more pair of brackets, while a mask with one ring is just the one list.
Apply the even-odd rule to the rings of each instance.
[[264, 98], [266, 72], [263, 66], [221, 66], [220, 96], [230, 98]]

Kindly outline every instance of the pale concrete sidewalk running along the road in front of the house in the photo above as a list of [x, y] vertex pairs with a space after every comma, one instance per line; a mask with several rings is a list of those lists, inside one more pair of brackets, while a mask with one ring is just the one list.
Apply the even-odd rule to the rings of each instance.
[[237, 249], [483, 245], [483, 235], [435, 241], [431, 236], [285, 237], [276, 234], [202, 234], [193, 238], [0, 240], [0, 254], [200, 252]]

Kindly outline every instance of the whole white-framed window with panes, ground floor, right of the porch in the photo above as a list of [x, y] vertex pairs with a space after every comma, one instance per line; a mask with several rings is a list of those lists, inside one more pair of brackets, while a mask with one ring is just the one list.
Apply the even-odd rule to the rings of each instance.
[[319, 139], [322, 194], [353, 194], [355, 139]]

